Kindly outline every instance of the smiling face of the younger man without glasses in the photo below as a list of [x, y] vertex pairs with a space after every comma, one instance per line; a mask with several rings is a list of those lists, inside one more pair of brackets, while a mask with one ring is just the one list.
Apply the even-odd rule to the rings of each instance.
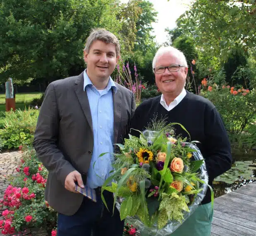
[[87, 75], [91, 79], [106, 80], [113, 73], [118, 57], [114, 44], [100, 40], [92, 43], [89, 52], [84, 52], [87, 63]]

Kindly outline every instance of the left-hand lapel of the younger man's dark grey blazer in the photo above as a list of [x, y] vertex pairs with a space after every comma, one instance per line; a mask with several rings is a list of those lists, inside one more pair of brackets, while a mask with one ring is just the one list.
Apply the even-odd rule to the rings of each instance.
[[89, 100], [87, 97], [87, 92], [86, 90], [84, 91], [84, 76], [83, 72], [77, 77], [77, 80], [75, 81], [75, 93], [77, 94], [77, 99], [82, 107], [82, 110], [85, 114], [85, 117], [89, 123], [89, 126], [92, 130], [92, 115], [91, 115], [91, 110], [90, 110], [90, 105], [89, 105]]

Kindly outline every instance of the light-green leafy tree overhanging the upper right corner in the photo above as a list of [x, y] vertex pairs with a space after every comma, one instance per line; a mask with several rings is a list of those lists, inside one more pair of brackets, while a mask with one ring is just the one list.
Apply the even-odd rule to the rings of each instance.
[[219, 57], [220, 62], [233, 48], [256, 49], [255, 0], [196, 0], [176, 23], [182, 33], [195, 38], [200, 51]]

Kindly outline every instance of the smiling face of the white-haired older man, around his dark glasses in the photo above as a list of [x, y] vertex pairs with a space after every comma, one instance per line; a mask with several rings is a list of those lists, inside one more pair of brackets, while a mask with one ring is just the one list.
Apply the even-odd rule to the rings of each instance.
[[[166, 52], [157, 58], [155, 67], [181, 65], [181, 61], [171, 52]], [[165, 69], [164, 73], [156, 74], [155, 81], [157, 87], [163, 94], [173, 94], [178, 96], [184, 88], [188, 68], [180, 67], [179, 71], [170, 72]]]

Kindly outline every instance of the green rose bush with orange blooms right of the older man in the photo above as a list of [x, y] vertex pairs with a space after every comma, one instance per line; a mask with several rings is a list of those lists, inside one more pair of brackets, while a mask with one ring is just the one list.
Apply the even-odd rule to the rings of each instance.
[[207, 81], [202, 80], [203, 90], [200, 95], [208, 98], [216, 106], [222, 116], [229, 137], [232, 141], [238, 141], [240, 135], [256, 115], [256, 92], [217, 85], [207, 86]]

